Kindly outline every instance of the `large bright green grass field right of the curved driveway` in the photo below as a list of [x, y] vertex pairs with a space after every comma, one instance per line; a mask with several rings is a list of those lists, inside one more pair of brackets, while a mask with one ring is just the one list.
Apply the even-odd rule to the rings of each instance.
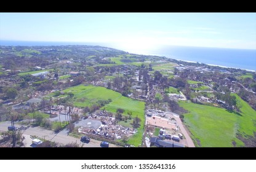
[[212, 106], [180, 102], [180, 106], [189, 112], [184, 114], [185, 125], [192, 133], [191, 138], [196, 146], [201, 147], [233, 147], [244, 146], [244, 143], [236, 138], [237, 133], [243, 136], [254, 135], [256, 128], [256, 111], [249, 104], [241, 100], [241, 113], [228, 112], [226, 109]]

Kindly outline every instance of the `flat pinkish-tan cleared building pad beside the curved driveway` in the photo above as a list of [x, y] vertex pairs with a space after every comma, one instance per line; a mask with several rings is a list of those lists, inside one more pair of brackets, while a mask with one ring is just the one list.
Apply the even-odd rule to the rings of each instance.
[[159, 117], [156, 115], [153, 115], [152, 117], [146, 119], [146, 124], [147, 125], [152, 125], [154, 127], [161, 127], [161, 128], [165, 128], [165, 129], [173, 129], [175, 130], [176, 128], [176, 124], [175, 123], [171, 123], [169, 121], [169, 119], [163, 118], [163, 117]]

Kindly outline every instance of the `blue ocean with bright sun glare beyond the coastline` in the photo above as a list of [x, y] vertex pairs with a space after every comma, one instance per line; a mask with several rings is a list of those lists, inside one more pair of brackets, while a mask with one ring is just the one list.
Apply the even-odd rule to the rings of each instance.
[[122, 49], [118, 44], [95, 42], [31, 42], [31, 41], [0, 41], [0, 45], [100, 45], [129, 53], [158, 55], [183, 61], [194, 61], [207, 65], [225, 66], [256, 71], [256, 49], [221, 49], [208, 47], [184, 47], [165, 45], [158, 49]]

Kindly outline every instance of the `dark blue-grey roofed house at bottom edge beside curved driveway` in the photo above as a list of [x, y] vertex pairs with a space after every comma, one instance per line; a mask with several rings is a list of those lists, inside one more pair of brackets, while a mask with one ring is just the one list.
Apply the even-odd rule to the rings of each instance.
[[150, 138], [150, 146], [156, 147], [185, 147], [183, 144], [174, 143], [170, 141], [164, 141], [157, 137]]

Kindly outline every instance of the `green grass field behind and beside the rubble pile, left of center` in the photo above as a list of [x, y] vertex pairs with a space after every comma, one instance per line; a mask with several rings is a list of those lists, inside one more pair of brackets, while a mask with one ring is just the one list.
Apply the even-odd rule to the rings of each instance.
[[[145, 123], [145, 103], [143, 101], [133, 100], [131, 98], [122, 96], [121, 93], [114, 92], [113, 90], [109, 90], [105, 87], [95, 87], [92, 85], [78, 85], [63, 90], [63, 92], [74, 93], [74, 106], [83, 108], [86, 106], [92, 106], [92, 104], [96, 103], [98, 100], [111, 99], [111, 103], [106, 104], [103, 107], [106, 111], [115, 113], [116, 109], [121, 108], [124, 109], [124, 114], [127, 114], [127, 112], [130, 111], [132, 112], [132, 117], [136, 117], [138, 115], [138, 117], [142, 120], [142, 125], [140, 125], [140, 128], [137, 128], [138, 132], [129, 138], [128, 143], [135, 146], [142, 143], [142, 134]], [[53, 94], [50, 94], [49, 96], [53, 96]]]

